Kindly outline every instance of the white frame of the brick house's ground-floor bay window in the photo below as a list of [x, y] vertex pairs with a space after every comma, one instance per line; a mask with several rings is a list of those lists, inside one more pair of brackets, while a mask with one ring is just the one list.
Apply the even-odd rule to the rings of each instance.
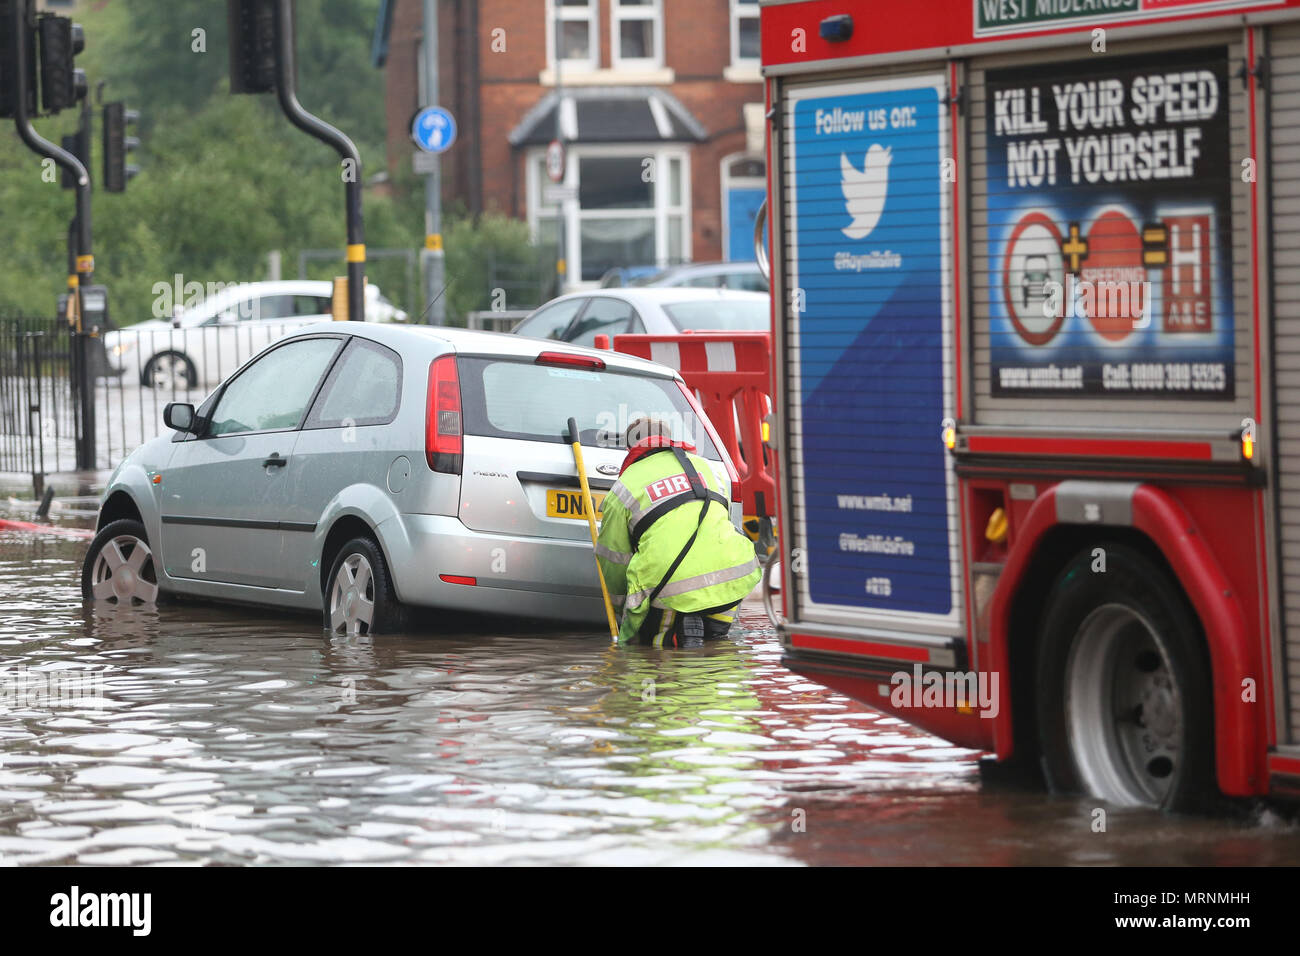
[[[681, 217], [681, 260], [692, 260], [692, 204], [690, 204], [690, 148], [666, 143], [632, 143], [632, 144], [592, 144], [568, 146], [568, 156], [564, 164], [563, 185], [577, 189], [578, 169], [584, 157], [619, 156], [623, 159], [636, 157], [638, 160], [653, 159], [655, 170], [654, 206], [645, 209], [590, 209], [582, 212], [578, 200], [572, 199], [563, 204], [559, 215], [564, 217], [564, 261], [566, 282], [568, 291], [575, 289], [592, 289], [599, 285], [599, 278], [584, 280], [582, 276], [582, 232], [584, 219], [642, 219], [654, 216], [654, 248], [655, 264], [664, 267], [668, 260], [668, 220], [672, 216]], [[681, 163], [681, 195], [680, 202], [670, 204], [668, 191], [668, 163], [679, 160]], [[552, 206], [542, 206], [542, 189], [550, 182], [546, 176], [546, 150], [534, 147], [525, 155], [525, 183], [528, 189], [528, 228], [533, 241], [538, 238], [538, 220], [555, 215]], [[663, 178], [660, 178], [663, 177]], [[662, 187], [660, 187], [662, 186]]]

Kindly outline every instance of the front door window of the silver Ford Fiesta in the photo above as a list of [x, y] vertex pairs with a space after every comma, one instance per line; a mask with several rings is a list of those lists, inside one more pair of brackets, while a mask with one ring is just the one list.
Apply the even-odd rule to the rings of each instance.
[[298, 428], [338, 345], [337, 338], [304, 338], [272, 349], [230, 380], [205, 437]]

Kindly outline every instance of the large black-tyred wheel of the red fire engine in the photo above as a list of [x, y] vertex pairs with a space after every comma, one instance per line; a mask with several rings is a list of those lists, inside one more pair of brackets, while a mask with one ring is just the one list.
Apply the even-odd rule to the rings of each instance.
[[1169, 574], [1126, 545], [1080, 551], [1053, 585], [1039, 637], [1039, 741], [1052, 790], [1205, 808], [1216, 793], [1208, 652]]

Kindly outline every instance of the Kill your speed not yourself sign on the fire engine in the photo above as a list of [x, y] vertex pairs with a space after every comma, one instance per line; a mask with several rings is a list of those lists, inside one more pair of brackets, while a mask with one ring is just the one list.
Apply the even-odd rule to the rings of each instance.
[[1227, 52], [989, 70], [992, 394], [1230, 399]]

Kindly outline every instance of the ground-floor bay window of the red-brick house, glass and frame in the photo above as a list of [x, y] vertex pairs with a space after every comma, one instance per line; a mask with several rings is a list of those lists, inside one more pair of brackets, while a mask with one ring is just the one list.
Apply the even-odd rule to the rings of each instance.
[[690, 260], [690, 183], [681, 147], [571, 146], [564, 185], [573, 199], [547, 199], [546, 157], [528, 164], [528, 220], [543, 248], [564, 221], [571, 285], [597, 282], [612, 268], [666, 267]]

